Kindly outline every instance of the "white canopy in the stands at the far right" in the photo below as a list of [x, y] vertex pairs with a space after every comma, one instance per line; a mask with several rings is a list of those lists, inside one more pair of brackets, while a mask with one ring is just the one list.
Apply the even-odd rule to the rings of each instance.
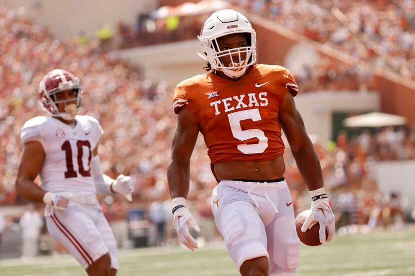
[[343, 121], [346, 127], [384, 127], [406, 124], [406, 118], [402, 116], [381, 112], [370, 112], [347, 118]]

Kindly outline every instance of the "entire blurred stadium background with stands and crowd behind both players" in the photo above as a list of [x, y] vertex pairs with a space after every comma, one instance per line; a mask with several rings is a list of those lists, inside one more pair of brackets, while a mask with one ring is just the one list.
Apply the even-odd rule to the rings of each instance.
[[[179, 81], [204, 72], [196, 36], [211, 12], [227, 7], [253, 24], [258, 62], [285, 66], [297, 80], [296, 105], [339, 234], [414, 221], [414, 1], [0, 0], [0, 258], [24, 248], [18, 222], [28, 202], [14, 190], [20, 128], [42, 114], [38, 83], [58, 67], [80, 78], [83, 113], [101, 122], [104, 172], [135, 179], [133, 203], [100, 198], [118, 246], [177, 244], [166, 180], [176, 124], [171, 97]], [[308, 208], [308, 194], [289, 149], [285, 160], [298, 213]], [[219, 239], [202, 139], [190, 177], [199, 240]], [[33, 208], [42, 214], [43, 206]], [[44, 224], [36, 241], [40, 254], [64, 253]]]

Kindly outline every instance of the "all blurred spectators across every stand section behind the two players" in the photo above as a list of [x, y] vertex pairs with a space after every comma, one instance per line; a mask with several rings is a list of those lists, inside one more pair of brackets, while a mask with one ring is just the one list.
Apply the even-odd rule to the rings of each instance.
[[[406, 77], [415, 77], [413, 1], [396, 1], [404, 8], [386, 5], [382, 0], [353, 4], [328, 1], [335, 6], [327, 6], [325, 1], [321, 1], [324, 5], [317, 6], [311, 0], [231, 2], [357, 59], [385, 66]], [[345, 14], [347, 21], [341, 22], [342, 17], [336, 9]], [[296, 17], [307, 17], [302, 20], [307, 24], [301, 24]], [[157, 36], [150, 35], [152, 31], [149, 32], [148, 26], [139, 29], [139, 32], [147, 32], [147, 36], [140, 34], [144, 35], [140, 41], [145, 43], [132, 41], [130, 27], [120, 24], [120, 45], [130, 47], [194, 38], [203, 20], [202, 16], [183, 17], [170, 22], [167, 27], [168, 18], [157, 19], [152, 29], [158, 31]], [[179, 24], [183, 24], [179, 29], [186, 31], [179, 31]], [[145, 206], [145, 219], [156, 226], [158, 238], [154, 244], [165, 242], [168, 239], [166, 233], [171, 232], [171, 227], [167, 227], [171, 223], [165, 172], [175, 128], [175, 115], [171, 110], [173, 87], [162, 81], [155, 83], [145, 79], [139, 68], [109, 59], [98, 40], [55, 39], [20, 9], [0, 6], [0, 36], [0, 205], [27, 203], [14, 191], [22, 149], [20, 128], [26, 120], [43, 114], [37, 104], [40, 79], [53, 68], [64, 68], [82, 82], [82, 113], [97, 118], [104, 129], [99, 146], [103, 170], [111, 177], [124, 173], [134, 178], [134, 204]], [[350, 81], [361, 83], [368, 74], [355, 66], [338, 67], [324, 61], [320, 67], [318, 73], [307, 68], [294, 72], [303, 91], [349, 89]], [[404, 205], [399, 195], [387, 197], [378, 191], [371, 169], [378, 161], [414, 159], [415, 129], [385, 128], [352, 137], [340, 133], [335, 142], [316, 138], [314, 145], [325, 183], [332, 191], [333, 206], [340, 214], [337, 218], [345, 221], [340, 225], [367, 224], [370, 218], [373, 225], [375, 218], [375, 226], [376, 221], [381, 221], [379, 218], [385, 208], [390, 211], [390, 202], [399, 208]], [[298, 211], [307, 209], [305, 185], [289, 151], [286, 151], [285, 160], [294, 206]], [[215, 185], [204, 142], [199, 139], [192, 155], [189, 199], [198, 211], [202, 230], [203, 225], [208, 229], [205, 234], [202, 232], [206, 240], [215, 236], [209, 203]], [[129, 208], [122, 198], [118, 200], [121, 202], [104, 200], [102, 204], [108, 220], [114, 224], [126, 220]], [[124, 229], [120, 232], [125, 231], [124, 226], [120, 226]], [[121, 236], [120, 239], [126, 239], [124, 234]]]

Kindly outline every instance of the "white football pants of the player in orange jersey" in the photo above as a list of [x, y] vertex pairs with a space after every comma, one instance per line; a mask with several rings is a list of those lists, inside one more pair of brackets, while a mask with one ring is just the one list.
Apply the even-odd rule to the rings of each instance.
[[238, 270], [258, 257], [269, 261], [269, 276], [294, 276], [299, 259], [291, 196], [285, 180], [225, 180], [213, 189], [216, 227]]

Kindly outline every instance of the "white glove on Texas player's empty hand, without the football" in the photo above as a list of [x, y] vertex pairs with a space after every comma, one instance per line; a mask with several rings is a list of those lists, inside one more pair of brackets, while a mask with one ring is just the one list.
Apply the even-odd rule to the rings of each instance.
[[182, 205], [173, 213], [173, 226], [177, 232], [178, 239], [191, 251], [197, 249], [197, 242], [191, 237], [188, 228], [191, 227], [197, 232], [200, 232], [200, 227], [197, 225], [196, 220], [190, 214], [187, 209], [186, 200], [184, 198], [173, 198], [171, 204], [174, 207]]

